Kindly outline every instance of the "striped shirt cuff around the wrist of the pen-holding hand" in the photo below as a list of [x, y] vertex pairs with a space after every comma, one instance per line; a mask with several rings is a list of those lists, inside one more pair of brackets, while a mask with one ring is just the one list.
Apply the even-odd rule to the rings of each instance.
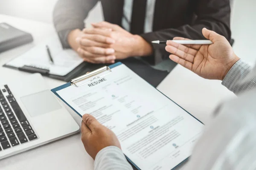
[[221, 84], [235, 94], [241, 94], [248, 87], [248, 84], [246, 82], [243, 83], [243, 80], [251, 71], [252, 67], [240, 59], [228, 71]]

